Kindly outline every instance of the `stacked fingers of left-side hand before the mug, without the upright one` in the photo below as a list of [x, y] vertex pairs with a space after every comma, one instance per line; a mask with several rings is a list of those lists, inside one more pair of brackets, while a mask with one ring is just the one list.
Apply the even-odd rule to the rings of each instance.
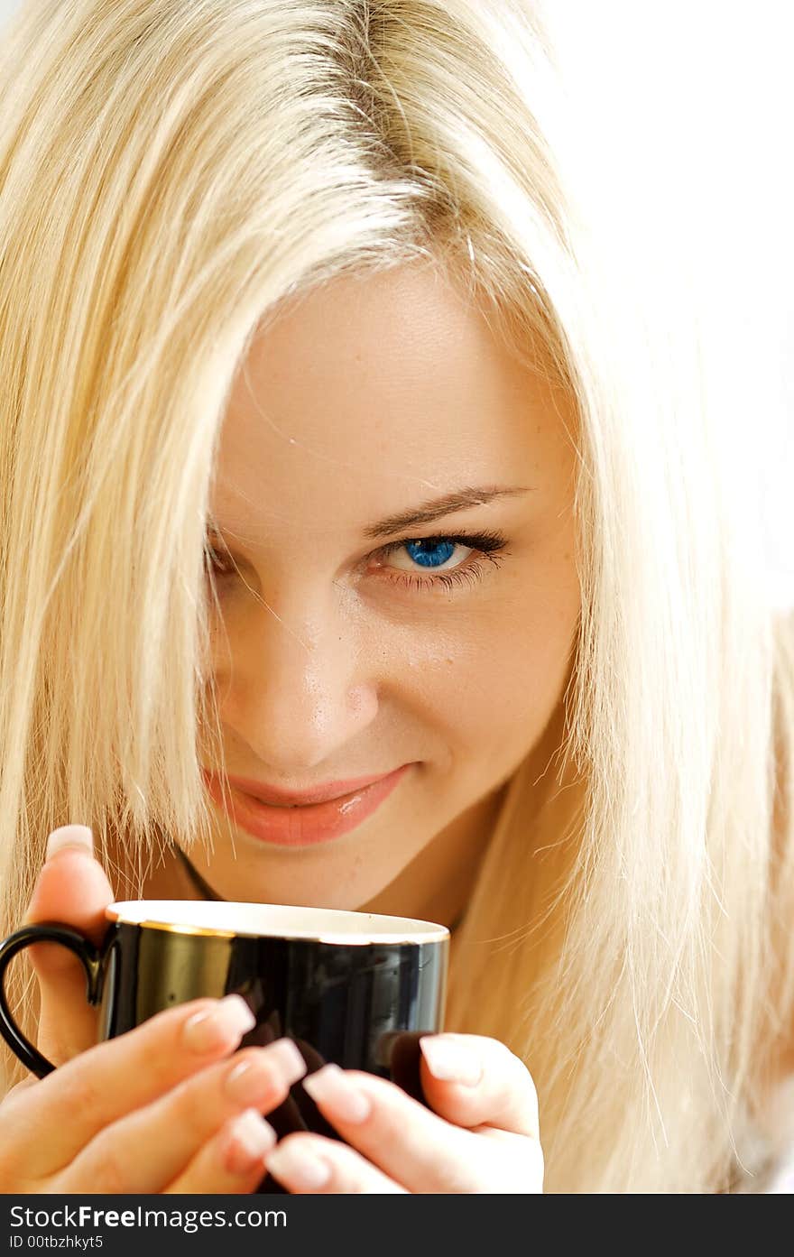
[[260, 1114], [305, 1071], [294, 1043], [229, 1053], [239, 996], [196, 999], [82, 1052], [0, 1104], [0, 1190], [244, 1193], [275, 1133]]

